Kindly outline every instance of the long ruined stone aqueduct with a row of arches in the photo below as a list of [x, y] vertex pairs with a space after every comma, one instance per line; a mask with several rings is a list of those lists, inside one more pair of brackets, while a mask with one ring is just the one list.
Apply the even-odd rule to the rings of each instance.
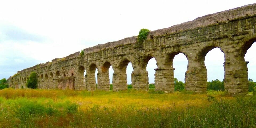
[[[97, 89], [109, 90], [109, 67], [112, 66], [113, 90], [126, 90], [126, 66], [132, 63], [134, 89], [148, 90], [146, 65], [157, 61], [155, 89], [174, 91], [173, 58], [183, 53], [188, 60], [185, 89], [203, 92], [207, 89], [205, 55], [213, 48], [224, 53], [225, 90], [243, 94], [248, 91], [246, 51], [256, 41], [256, 4], [246, 5], [196, 18], [169, 28], [150, 31], [147, 39], [137, 42], [129, 37], [84, 49], [64, 58], [39, 64], [11, 76], [9, 86], [25, 87], [32, 71], [38, 74], [40, 89], [95, 90], [95, 69], [98, 69]], [[84, 76], [84, 71], [86, 75]]]

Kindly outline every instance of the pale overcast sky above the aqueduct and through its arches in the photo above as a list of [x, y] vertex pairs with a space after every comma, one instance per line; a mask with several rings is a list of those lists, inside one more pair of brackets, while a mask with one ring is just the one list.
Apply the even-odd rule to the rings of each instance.
[[[162, 29], [251, 3], [255, 0], [1, 1], [0, 79], [87, 47], [138, 35], [142, 28]], [[245, 59], [250, 61], [249, 78], [256, 81], [255, 51], [252, 46]], [[206, 55], [208, 81], [223, 79], [223, 62], [218, 48]], [[147, 66], [150, 83], [154, 83], [155, 63], [153, 58]], [[173, 67], [174, 76], [184, 82], [186, 57], [175, 56]], [[132, 71], [131, 66], [128, 69]]]

